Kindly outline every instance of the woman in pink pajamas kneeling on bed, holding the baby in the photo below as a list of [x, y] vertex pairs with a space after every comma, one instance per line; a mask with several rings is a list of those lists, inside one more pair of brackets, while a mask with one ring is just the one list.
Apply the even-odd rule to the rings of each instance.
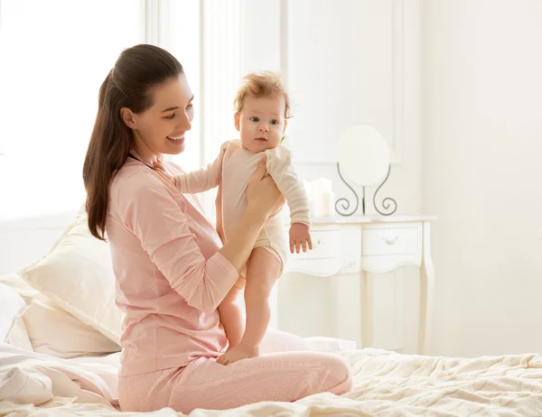
[[[169, 406], [188, 413], [346, 393], [350, 367], [339, 357], [300, 352], [307, 346], [293, 335], [269, 335], [261, 357], [216, 362], [227, 347], [217, 306], [284, 199], [260, 163], [244, 218], [221, 245], [194, 197], [154, 169], [164, 154], [184, 150], [192, 99], [181, 64], [152, 45], [123, 51], [99, 90], [83, 179], [89, 229], [100, 239], [107, 232], [117, 305], [126, 313], [118, 381], [123, 411]], [[165, 169], [181, 171], [171, 163]], [[269, 344], [276, 346], [266, 349]], [[298, 351], [265, 354], [285, 349]]]

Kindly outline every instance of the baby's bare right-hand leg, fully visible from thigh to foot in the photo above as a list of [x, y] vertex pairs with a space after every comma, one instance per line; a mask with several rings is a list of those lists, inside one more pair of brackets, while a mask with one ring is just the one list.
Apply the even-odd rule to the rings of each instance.
[[269, 295], [273, 290], [281, 270], [276, 256], [263, 247], [252, 251], [247, 263], [247, 287], [245, 304], [247, 308], [247, 327], [238, 344], [221, 357], [223, 365], [228, 365], [246, 357], [257, 357], [258, 346], [271, 317]]

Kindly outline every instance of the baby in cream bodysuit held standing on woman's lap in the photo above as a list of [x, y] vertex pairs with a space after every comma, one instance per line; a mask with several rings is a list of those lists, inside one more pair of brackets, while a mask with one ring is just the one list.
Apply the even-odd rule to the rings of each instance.
[[[257, 357], [270, 319], [268, 298], [284, 270], [288, 246], [292, 253], [299, 253], [300, 249], [305, 252], [307, 246], [313, 248], [308, 198], [295, 174], [291, 153], [280, 144], [290, 112], [280, 79], [272, 72], [248, 74], [234, 103], [240, 139], [223, 144], [219, 157], [206, 168], [176, 177], [176, 186], [184, 193], [220, 186], [217, 230], [226, 242], [245, 211], [248, 180], [266, 157], [267, 172], [290, 208], [291, 227], [288, 242], [280, 216], [267, 219], [238, 283], [220, 303], [220, 322], [229, 340], [228, 350], [217, 359], [222, 365]], [[236, 302], [243, 287], [246, 323]]]

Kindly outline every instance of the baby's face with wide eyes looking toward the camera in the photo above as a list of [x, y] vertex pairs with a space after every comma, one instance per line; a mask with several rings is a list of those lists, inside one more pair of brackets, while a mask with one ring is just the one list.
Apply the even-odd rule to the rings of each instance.
[[284, 97], [245, 97], [241, 112], [235, 116], [241, 144], [251, 153], [278, 146], [286, 124]]

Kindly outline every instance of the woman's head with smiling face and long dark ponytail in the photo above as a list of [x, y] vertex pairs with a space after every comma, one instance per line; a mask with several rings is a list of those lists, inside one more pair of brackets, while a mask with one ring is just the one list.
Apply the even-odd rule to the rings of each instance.
[[182, 153], [182, 140], [168, 136], [191, 129], [192, 98], [181, 63], [168, 51], [138, 44], [121, 52], [99, 88], [83, 165], [93, 236], [105, 240], [109, 187], [129, 156], [153, 168], [164, 154]]

